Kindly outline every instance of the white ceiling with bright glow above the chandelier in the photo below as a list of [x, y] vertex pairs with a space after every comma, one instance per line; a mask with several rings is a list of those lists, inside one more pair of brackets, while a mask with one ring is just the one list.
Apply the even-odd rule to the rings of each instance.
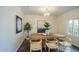
[[24, 14], [44, 15], [48, 12], [50, 15], [58, 16], [79, 6], [21, 6], [20, 8]]

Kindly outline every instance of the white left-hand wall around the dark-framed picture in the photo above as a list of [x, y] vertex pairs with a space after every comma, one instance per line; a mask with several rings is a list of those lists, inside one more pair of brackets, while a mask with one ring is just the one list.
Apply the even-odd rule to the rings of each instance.
[[23, 31], [16, 34], [16, 15], [24, 15], [19, 7], [0, 7], [0, 51], [17, 51], [23, 42]]

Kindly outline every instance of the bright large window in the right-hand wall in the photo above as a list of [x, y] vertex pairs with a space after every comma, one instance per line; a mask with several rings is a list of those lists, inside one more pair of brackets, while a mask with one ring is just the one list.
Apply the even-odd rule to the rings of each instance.
[[72, 19], [68, 21], [68, 34], [79, 36], [79, 19]]

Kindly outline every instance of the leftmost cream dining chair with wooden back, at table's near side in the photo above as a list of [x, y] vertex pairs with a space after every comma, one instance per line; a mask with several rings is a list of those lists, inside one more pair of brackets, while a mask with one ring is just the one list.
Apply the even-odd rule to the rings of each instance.
[[42, 39], [40, 36], [32, 36], [30, 39], [30, 52], [42, 51]]

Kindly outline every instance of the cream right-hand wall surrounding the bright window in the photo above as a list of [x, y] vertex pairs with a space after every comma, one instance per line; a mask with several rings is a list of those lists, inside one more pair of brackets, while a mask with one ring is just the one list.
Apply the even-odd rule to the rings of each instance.
[[[78, 18], [79, 19], [79, 8], [71, 10], [69, 12], [66, 12], [60, 16], [57, 17], [57, 31], [60, 34], [65, 34], [66, 33], [66, 26], [67, 26], [67, 21], [73, 18]], [[76, 36], [71, 36], [72, 38], [72, 43], [79, 47], [79, 37]]]

